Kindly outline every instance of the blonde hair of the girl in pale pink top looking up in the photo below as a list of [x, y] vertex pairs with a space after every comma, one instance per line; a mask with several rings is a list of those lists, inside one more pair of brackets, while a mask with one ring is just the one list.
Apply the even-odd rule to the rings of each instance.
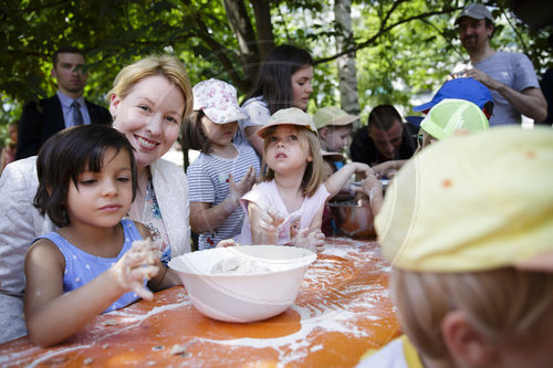
[[[298, 138], [302, 145], [305, 143], [309, 145], [310, 155], [313, 157], [311, 162], [307, 162], [305, 172], [303, 174], [303, 180], [301, 185], [302, 194], [305, 197], [313, 196], [319, 187], [324, 181], [325, 169], [323, 165], [323, 156], [321, 155], [321, 144], [319, 143], [317, 136], [304, 128], [302, 126], [291, 124], [298, 132]], [[263, 138], [263, 159], [261, 160], [261, 177], [260, 181], [270, 181], [274, 179], [274, 171], [269, 166], [267, 166], [265, 155], [267, 146], [269, 146], [270, 137], [276, 130], [278, 125], [273, 125], [267, 128]]]

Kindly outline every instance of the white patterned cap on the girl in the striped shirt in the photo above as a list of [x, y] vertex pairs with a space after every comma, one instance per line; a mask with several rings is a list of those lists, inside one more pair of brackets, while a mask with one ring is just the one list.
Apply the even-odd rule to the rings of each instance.
[[194, 109], [202, 111], [217, 124], [227, 124], [244, 119], [237, 99], [237, 90], [222, 81], [210, 78], [196, 84], [192, 88]]

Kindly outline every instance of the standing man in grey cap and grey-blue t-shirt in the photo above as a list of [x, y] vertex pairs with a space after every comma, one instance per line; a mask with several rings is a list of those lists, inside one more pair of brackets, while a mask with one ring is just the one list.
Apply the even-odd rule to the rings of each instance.
[[494, 111], [490, 125], [520, 124], [521, 114], [536, 122], [546, 117], [547, 104], [526, 55], [495, 51], [490, 46], [493, 18], [480, 3], [467, 6], [455, 24], [472, 69], [465, 76], [482, 82], [491, 90]]

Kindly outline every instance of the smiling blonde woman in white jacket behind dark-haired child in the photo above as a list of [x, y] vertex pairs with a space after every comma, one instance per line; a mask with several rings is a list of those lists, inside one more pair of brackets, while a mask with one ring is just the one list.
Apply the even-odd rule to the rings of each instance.
[[[149, 229], [163, 262], [190, 251], [188, 181], [180, 167], [161, 159], [192, 109], [185, 65], [152, 55], [125, 66], [109, 91], [113, 126], [135, 149], [136, 199], [129, 218]], [[23, 260], [31, 242], [58, 227], [33, 207], [36, 157], [7, 166], [0, 178], [0, 343], [27, 334], [23, 320]]]

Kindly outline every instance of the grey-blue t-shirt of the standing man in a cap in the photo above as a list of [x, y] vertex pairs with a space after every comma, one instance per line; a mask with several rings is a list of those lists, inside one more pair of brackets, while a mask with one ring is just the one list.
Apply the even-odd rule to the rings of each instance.
[[[498, 51], [490, 57], [474, 63], [473, 66], [515, 91], [522, 92], [529, 87], [540, 88], [534, 66], [522, 53]], [[521, 123], [521, 114], [499, 92], [491, 91], [491, 95], [494, 106], [490, 126]]]

